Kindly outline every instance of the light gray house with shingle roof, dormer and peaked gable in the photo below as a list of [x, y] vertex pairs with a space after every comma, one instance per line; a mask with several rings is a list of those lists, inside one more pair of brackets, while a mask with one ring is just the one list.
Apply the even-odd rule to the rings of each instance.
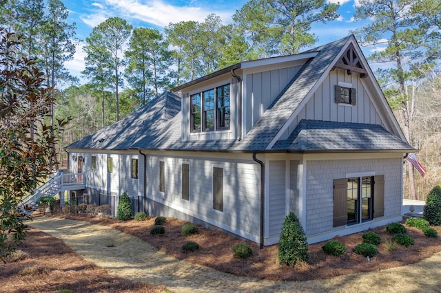
[[66, 151], [90, 202], [126, 191], [267, 246], [290, 211], [309, 243], [400, 221], [414, 149], [347, 36], [180, 85]]

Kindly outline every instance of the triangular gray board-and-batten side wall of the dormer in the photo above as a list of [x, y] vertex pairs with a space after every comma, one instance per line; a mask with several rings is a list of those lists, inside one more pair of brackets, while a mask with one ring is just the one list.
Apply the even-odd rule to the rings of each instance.
[[243, 109], [245, 133], [252, 128], [301, 67], [302, 65], [298, 65], [247, 74]]

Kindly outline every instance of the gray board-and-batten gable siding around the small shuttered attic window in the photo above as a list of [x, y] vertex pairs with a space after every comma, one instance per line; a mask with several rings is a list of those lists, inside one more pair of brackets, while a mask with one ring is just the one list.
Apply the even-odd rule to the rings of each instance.
[[[335, 86], [339, 82], [349, 83], [351, 87], [356, 89], [356, 105], [338, 104], [335, 102]], [[348, 75], [345, 70], [340, 68], [331, 71], [323, 80], [322, 84], [309, 98], [307, 104], [300, 109], [298, 115], [280, 139], [287, 139], [302, 119], [379, 124], [384, 126], [384, 122], [382, 122], [371, 97], [369, 97], [365, 87], [362, 85], [359, 75], [356, 73]]]

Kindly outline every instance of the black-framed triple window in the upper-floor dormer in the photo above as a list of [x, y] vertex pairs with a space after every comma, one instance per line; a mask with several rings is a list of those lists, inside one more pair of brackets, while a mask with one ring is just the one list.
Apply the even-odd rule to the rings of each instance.
[[229, 129], [229, 89], [229, 85], [223, 85], [190, 96], [192, 132]]

